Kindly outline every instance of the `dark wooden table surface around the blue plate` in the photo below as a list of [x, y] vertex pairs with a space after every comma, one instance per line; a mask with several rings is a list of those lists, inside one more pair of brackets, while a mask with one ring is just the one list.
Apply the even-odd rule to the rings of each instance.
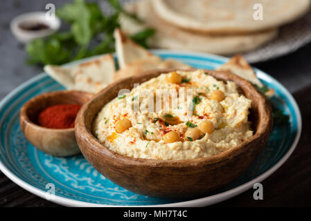
[[[311, 85], [294, 93], [301, 108], [303, 131], [296, 150], [263, 184], [263, 200], [254, 189], [214, 206], [311, 206]], [[59, 206], [17, 186], [0, 172], [0, 206]]]

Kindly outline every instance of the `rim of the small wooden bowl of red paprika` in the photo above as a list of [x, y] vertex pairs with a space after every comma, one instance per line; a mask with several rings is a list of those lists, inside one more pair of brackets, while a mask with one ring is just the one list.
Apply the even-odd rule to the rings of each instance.
[[21, 111], [19, 113], [20, 119], [22, 121], [24, 121], [28, 126], [31, 126], [32, 128], [35, 128], [37, 130], [40, 131], [44, 131], [44, 132], [53, 132], [53, 133], [65, 133], [65, 132], [74, 132], [75, 128], [64, 128], [64, 129], [54, 129], [54, 128], [46, 128], [44, 126], [39, 126], [39, 124], [35, 124], [35, 122], [33, 122], [27, 114], [27, 110], [30, 107], [30, 104], [33, 103], [35, 104], [38, 98], [46, 98], [46, 97], [53, 97], [55, 95], [62, 95], [62, 94], [70, 94], [70, 93], [82, 93], [85, 95], [92, 95], [91, 93], [82, 91], [82, 90], [57, 90], [57, 91], [51, 91], [48, 93], [42, 93], [40, 95], [37, 95], [35, 97], [32, 97], [31, 99], [29, 99], [22, 107], [21, 107]]

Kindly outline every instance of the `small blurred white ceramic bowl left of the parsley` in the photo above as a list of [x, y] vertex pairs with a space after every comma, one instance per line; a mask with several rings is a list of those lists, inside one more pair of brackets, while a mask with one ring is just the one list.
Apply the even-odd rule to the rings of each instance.
[[[20, 27], [21, 23], [27, 22], [44, 23], [48, 26], [48, 28], [42, 30], [25, 30]], [[52, 35], [60, 28], [60, 23], [60, 19], [56, 16], [55, 19], [47, 19], [46, 12], [28, 12], [12, 19], [10, 29], [17, 40], [22, 43], [28, 43], [33, 39]]]

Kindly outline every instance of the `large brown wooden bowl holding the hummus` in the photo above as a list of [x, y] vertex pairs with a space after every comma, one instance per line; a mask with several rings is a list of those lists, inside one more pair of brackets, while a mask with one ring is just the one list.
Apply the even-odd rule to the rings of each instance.
[[154, 70], [110, 84], [81, 108], [75, 119], [75, 136], [85, 158], [115, 184], [155, 197], [194, 197], [228, 184], [249, 167], [272, 131], [272, 108], [249, 81], [231, 73], [205, 70], [218, 80], [236, 82], [240, 92], [253, 100], [249, 117], [254, 135], [249, 140], [218, 155], [195, 160], [127, 157], [100, 144], [92, 134], [92, 124], [101, 108], [114, 99], [119, 90], [132, 90], [134, 83], [143, 83], [169, 71], [172, 70]]

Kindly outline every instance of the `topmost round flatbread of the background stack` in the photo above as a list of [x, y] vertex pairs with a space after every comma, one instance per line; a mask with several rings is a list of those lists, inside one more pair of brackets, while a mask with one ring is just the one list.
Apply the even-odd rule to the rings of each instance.
[[[152, 3], [157, 15], [174, 26], [218, 34], [275, 28], [298, 19], [310, 8], [310, 0], [153, 0]], [[263, 20], [254, 19], [256, 4], [263, 8]]]

